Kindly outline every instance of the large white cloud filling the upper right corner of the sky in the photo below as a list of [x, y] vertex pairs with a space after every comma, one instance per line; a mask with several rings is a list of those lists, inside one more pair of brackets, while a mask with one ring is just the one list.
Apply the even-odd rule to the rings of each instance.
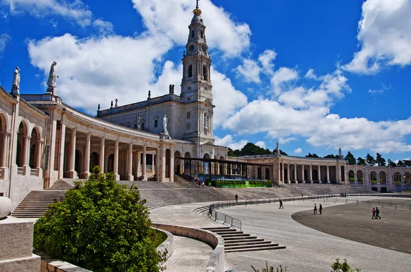
[[358, 23], [360, 51], [343, 66], [362, 74], [378, 72], [384, 66], [411, 64], [411, 1], [367, 0]]

